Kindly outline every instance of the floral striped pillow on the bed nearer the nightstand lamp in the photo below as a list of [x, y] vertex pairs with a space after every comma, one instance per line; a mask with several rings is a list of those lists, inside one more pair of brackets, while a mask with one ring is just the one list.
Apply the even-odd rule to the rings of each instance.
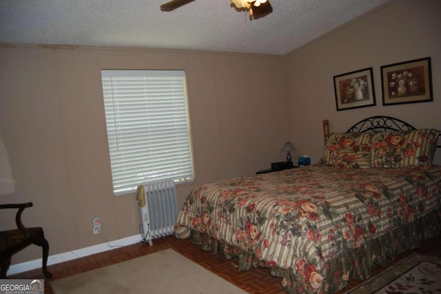
[[322, 163], [340, 168], [369, 168], [373, 133], [331, 133], [325, 137]]

